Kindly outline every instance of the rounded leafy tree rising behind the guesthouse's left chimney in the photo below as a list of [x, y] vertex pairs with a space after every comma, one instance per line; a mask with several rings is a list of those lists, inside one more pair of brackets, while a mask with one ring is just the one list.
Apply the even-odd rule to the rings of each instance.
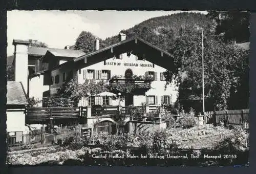
[[99, 47], [104, 48], [106, 45], [102, 43], [102, 39], [94, 36], [91, 32], [82, 31], [76, 39], [75, 49], [82, 50], [84, 53], [91, 53], [94, 49], [94, 41], [99, 39]]

